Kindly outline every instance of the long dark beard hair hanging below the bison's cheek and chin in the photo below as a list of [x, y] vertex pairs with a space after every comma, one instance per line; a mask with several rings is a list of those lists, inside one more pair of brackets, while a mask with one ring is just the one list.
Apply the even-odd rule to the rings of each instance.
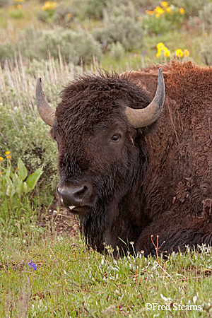
[[[113, 164], [107, 173], [95, 179], [98, 189], [95, 205], [90, 207], [88, 215], [78, 216], [86, 245], [98, 252], [104, 252], [105, 245], [111, 245], [114, 254], [117, 246], [124, 253], [127, 250], [133, 252], [130, 245], [127, 247], [127, 242], [136, 242], [141, 232], [141, 193], [148, 170], [148, 149], [143, 138], [139, 137], [138, 131], [136, 147], [128, 150], [125, 158]], [[129, 213], [132, 218], [129, 218]], [[136, 221], [131, 223], [131, 220]]]

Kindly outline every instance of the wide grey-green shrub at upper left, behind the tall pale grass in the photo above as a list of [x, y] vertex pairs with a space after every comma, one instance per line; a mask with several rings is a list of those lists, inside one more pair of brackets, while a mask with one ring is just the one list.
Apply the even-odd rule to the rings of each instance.
[[87, 34], [85, 31], [75, 32], [62, 28], [53, 30], [28, 28], [24, 30], [14, 46], [1, 45], [1, 65], [4, 64], [7, 57], [14, 57], [18, 51], [23, 59], [37, 59], [38, 61], [47, 59], [49, 54], [54, 59], [59, 59], [59, 54], [61, 54], [66, 63], [73, 64], [90, 63], [93, 61], [93, 57], [100, 61], [102, 57], [100, 43], [94, 39], [93, 35]]

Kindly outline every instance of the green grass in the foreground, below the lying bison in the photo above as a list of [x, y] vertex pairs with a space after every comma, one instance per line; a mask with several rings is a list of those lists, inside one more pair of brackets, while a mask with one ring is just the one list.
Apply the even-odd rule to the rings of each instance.
[[1, 317], [211, 317], [211, 247], [113, 259], [110, 249], [100, 255], [78, 236], [34, 225], [29, 235], [1, 237], [0, 248]]

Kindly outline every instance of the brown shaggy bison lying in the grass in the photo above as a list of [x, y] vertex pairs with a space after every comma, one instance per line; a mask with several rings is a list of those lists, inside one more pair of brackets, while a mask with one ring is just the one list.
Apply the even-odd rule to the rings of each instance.
[[58, 145], [57, 193], [88, 246], [148, 255], [157, 240], [167, 253], [211, 243], [211, 67], [81, 76], [56, 111], [39, 78], [36, 102]]

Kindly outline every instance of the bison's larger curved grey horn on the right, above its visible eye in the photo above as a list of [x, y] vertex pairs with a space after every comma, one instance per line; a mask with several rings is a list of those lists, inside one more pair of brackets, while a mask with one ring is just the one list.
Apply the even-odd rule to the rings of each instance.
[[163, 72], [160, 67], [158, 73], [158, 87], [152, 102], [146, 108], [142, 108], [139, 110], [134, 110], [130, 107], [126, 107], [125, 112], [130, 124], [134, 128], [142, 128], [153, 124], [153, 122], [158, 119], [161, 111], [163, 110], [164, 99], [165, 85], [163, 81]]

